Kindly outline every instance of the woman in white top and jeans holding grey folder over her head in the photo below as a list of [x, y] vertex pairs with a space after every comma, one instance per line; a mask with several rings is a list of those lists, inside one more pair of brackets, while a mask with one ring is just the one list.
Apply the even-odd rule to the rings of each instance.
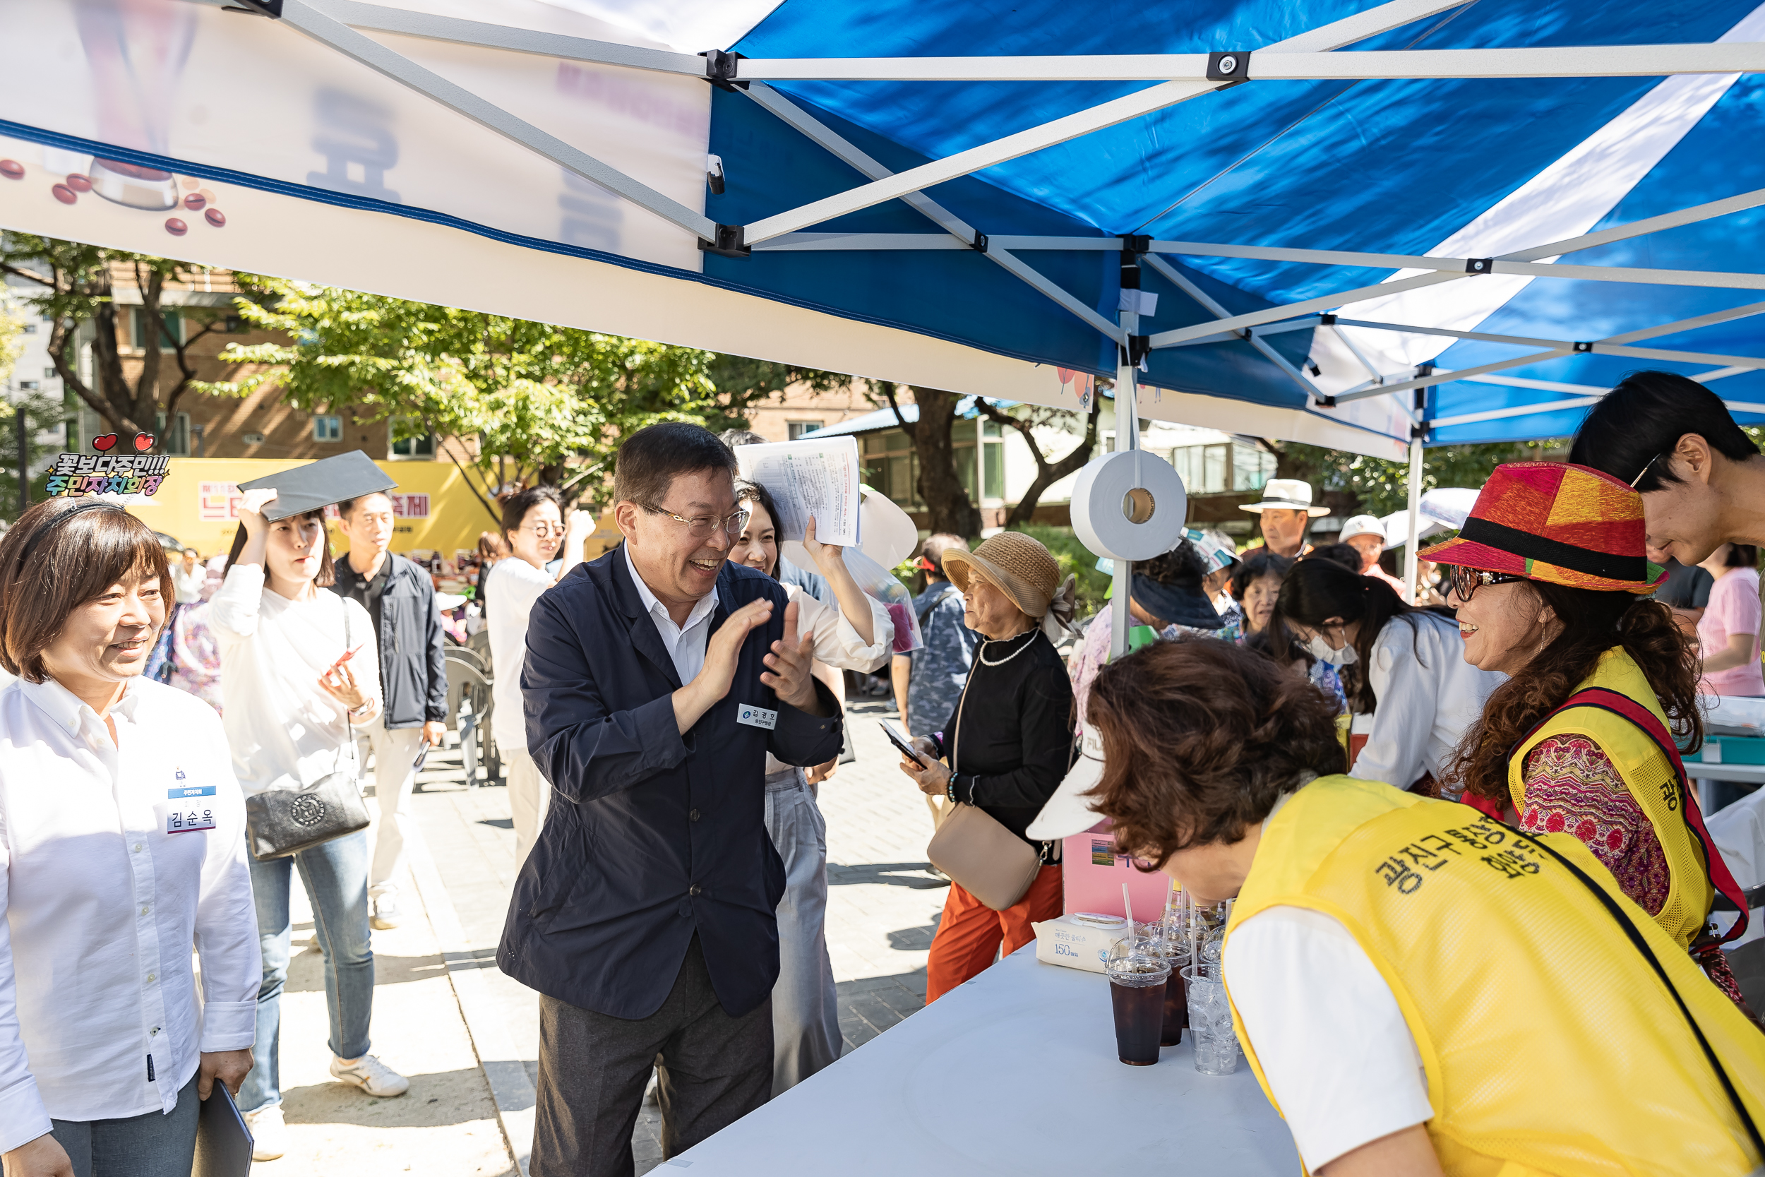
[[[358, 771], [355, 731], [379, 716], [374, 623], [358, 602], [321, 593], [332, 554], [321, 510], [270, 522], [274, 489], [247, 491], [238, 508], [226, 581], [208, 603], [221, 646], [221, 695], [233, 771], [245, 796]], [[351, 656], [339, 662], [346, 653]], [[263, 978], [258, 990], [258, 1066], [238, 1105], [256, 1140], [252, 1158], [282, 1156], [279, 1031], [288, 981], [288, 891], [295, 870], [312, 902], [325, 953], [330, 1075], [371, 1096], [402, 1096], [409, 1080], [367, 1053], [374, 1011], [374, 951], [367, 926], [367, 831], [289, 858], [251, 863]]]

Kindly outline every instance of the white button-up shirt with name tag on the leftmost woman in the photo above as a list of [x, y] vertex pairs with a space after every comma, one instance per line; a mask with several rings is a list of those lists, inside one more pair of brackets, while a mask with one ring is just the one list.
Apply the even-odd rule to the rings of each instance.
[[[53, 679], [0, 690], [0, 1151], [49, 1117], [169, 1112], [199, 1052], [252, 1045], [263, 965], [221, 716], [145, 678], [111, 716], [116, 743]], [[166, 833], [171, 810], [214, 828]]]

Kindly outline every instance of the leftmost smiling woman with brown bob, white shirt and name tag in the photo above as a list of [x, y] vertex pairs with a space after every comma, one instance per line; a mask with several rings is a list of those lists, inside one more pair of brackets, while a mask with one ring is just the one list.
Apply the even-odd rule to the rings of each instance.
[[0, 542], [9, 1177], [185, 1177], [198, 1101], [251, 1069], [258, 930], [226, 736], [141, 676], [171, 591], [115, 503], [39, 503]]

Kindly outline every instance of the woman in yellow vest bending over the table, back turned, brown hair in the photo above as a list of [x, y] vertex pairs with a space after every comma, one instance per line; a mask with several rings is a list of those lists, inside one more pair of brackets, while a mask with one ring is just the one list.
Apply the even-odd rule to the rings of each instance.
[[1228, 898], [1239, 1043], [1322, 1177], [1742, 1177], [1765, 1034], [1580, 840], [1343, 775], [1329, 701], [1227, 642], [1091, 686], [1119, 851]]

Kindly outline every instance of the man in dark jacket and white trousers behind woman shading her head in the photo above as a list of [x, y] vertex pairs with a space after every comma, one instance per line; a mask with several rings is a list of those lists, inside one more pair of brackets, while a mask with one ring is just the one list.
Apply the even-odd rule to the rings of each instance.
[[424, 568], [387, 551], [395, 517], [392, 499], [376, 491], [337, 505], [349, 554], [337, 561], [332, 591], [362, 602], [374, 619], [379, 648], [379, 685], [385, 708], [369, 727], [374, 752], [374, 796], [379, 798], [379, 835], [367, 896], [376, 928], [399, 926], [399, 881], [404, 835], [411, 822], [417, 757], [439, 745], [447, 732], [447, 658], [434, 582]]

